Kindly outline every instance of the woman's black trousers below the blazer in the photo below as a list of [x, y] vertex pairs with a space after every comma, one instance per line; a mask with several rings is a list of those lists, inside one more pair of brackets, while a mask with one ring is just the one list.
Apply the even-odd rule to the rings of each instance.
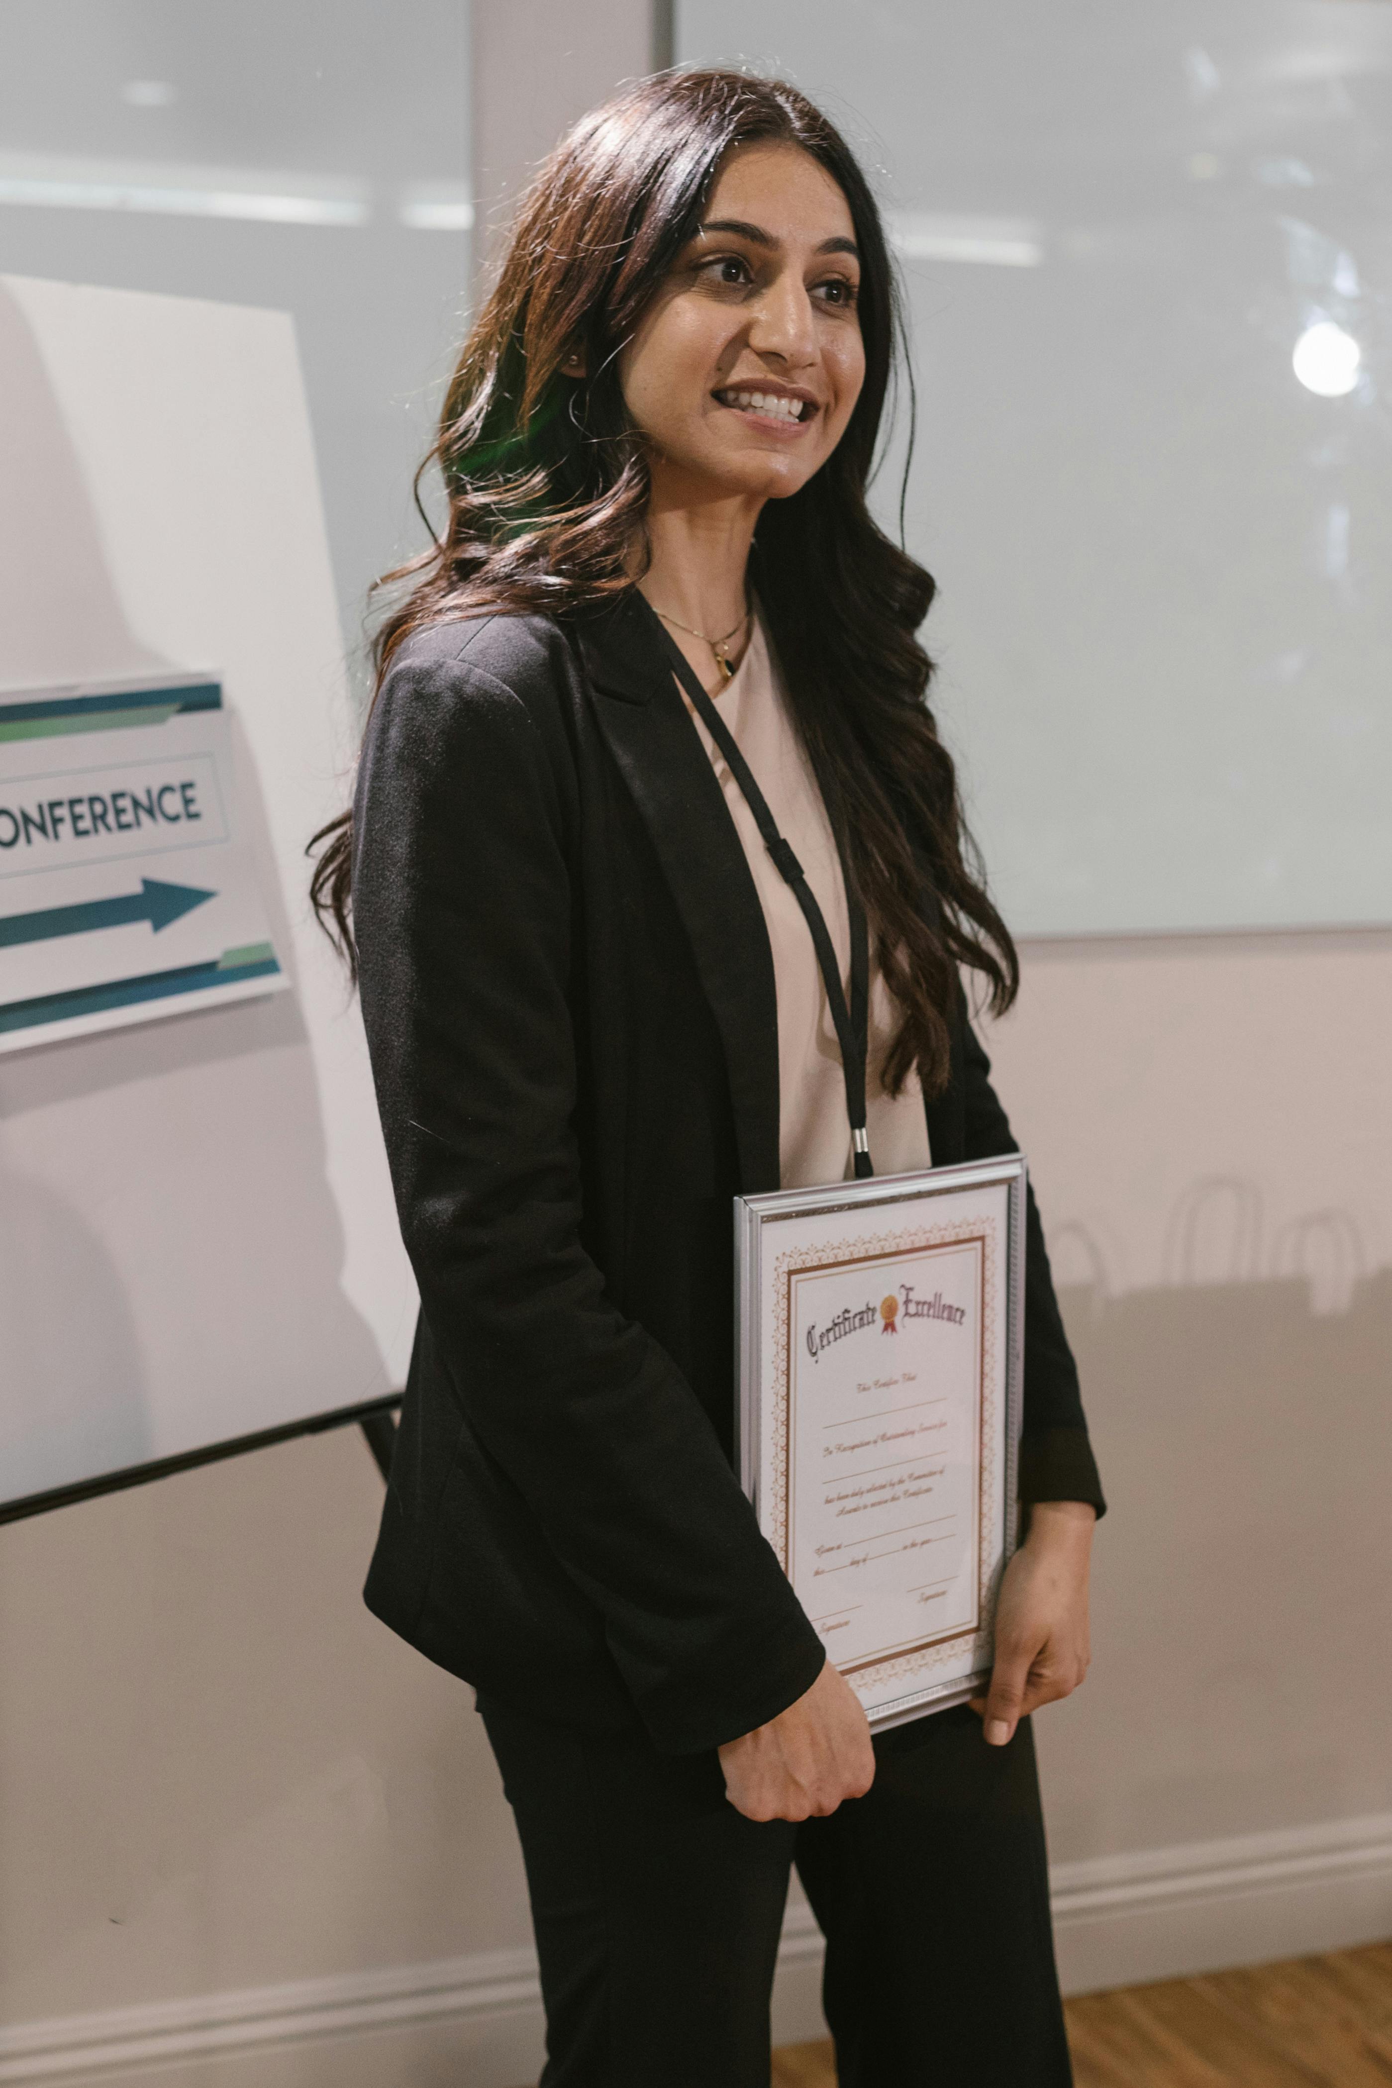
[[547, 2002], [543, 2088], [768, 2088], [795, 1862], [826, 1936], [841, 2088], [1069, 2088], [1033, 1737], [966, 1710], [874, 1743], [831, 1819], [743, 1819], [714, 1754], [488, 1700]]

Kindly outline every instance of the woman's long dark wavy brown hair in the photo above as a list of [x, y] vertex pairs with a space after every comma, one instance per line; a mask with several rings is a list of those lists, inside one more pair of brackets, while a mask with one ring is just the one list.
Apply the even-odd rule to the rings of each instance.
[[[893, 1094], [918, 1067], [933, 1094], [947, 1079], [958, 967], [983, 975], [1002, 1013], [1018, 960], [927, 706], [933, 664], [916, 633], [933, 578], [866, 505], [904, 349], [885, 230], [849, 146], [795, 88], [739, 71], [659, 73], [576, 123], [545, 161], [422, 464], [422, 474], [438, 466], [445, 526], [380, 583], [390, 593], [374, 639], [378, 687], [424, 624], [482, 610], [566, 618], [641, 578], [649, 470], [618, 357], [726, 155], [768, 142], [808, 152], [849, 205], [866, 376], [826, 464], [760, 514], [749, 578], [899, 1011], [881, 1079]], [[351, 814], [315, 846], [313, 904], [355, 971]]]

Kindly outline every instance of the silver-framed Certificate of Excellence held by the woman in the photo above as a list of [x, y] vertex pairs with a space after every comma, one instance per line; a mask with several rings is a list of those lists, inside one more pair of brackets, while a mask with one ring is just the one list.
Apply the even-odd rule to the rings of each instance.
[[735, 1205], [741, 1478], [877, 1731], [989, 1681], [1025, 1180], [1008, 1155]]

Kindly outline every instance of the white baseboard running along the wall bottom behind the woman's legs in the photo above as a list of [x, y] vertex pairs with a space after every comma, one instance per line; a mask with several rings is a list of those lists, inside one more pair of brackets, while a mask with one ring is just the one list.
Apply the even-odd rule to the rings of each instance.
[[[1052, 1885], [1064, 1992], [1346, 1948], [1392, 1933], [1392, 1812], [1064, 1862], [1054, 1867]], [[774, 1996], [781, 2040], [820, 2036], [820, 1952], [810, 1908], [793, 1904]], [[467, 2038], [480, 2048], [472, 2088], [509, 2088], [534, 2073], [541, 1988], [532, 1952], [474, 1952], [19, 2023], [0, 2030], [0, 2082], [129, 2080], [142, 2069], [169, 2080], [177, 2063], [196, 2069], [198, 2061], [365, 2034], [428, 2034], [445, 2023], [478, 2034]], [[392, 2071], [407, 2078], [409, 2069]], [[336, 2073], [344, 2073], [342, 2061], [328, 2075], [315, 2069], [313, 2080]]]

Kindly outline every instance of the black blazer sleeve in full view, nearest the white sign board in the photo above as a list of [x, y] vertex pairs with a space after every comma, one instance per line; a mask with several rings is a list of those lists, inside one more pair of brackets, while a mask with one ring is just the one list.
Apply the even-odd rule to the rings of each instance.
[[355, 808], [361, 1000], [401, 1230], [465, 1424], [524, 1497], [659, 1750], [735, 1739], [824, 1647], [668, 1353], [580, 1240], [559, 706], [399, 664]]

